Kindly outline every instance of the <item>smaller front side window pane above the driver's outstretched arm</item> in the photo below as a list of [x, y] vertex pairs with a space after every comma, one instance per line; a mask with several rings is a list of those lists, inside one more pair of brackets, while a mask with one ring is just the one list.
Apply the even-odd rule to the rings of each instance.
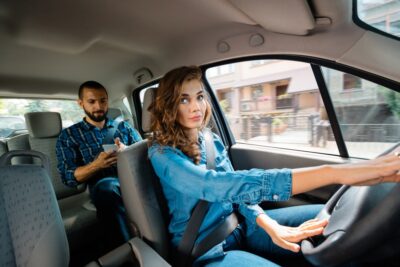
[[399, 142], [400, 93], [348, 73], [322, 71], [351, 157], [374, 158]]

